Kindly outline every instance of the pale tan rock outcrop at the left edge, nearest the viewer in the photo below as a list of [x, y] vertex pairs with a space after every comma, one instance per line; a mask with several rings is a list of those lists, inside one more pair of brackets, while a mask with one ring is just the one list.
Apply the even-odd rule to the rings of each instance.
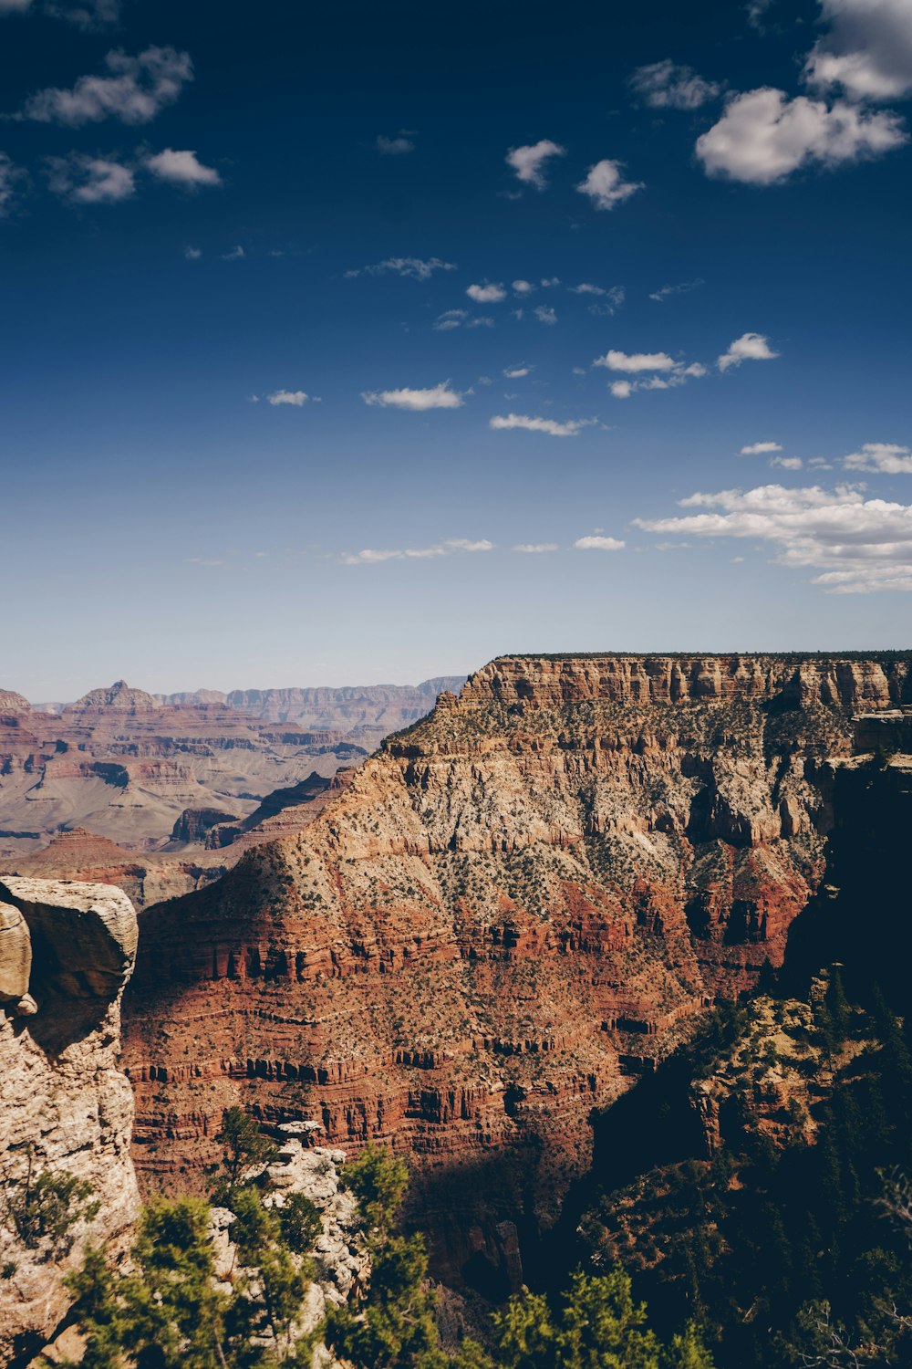
[[[133, 1095], [118, 1069], [120, 995], [137, 919], [120, 890], [0, 879], [0, 1364], [46, 1343], [85, 1240], [129, 1240], [138, 1207]], [[36, 1206], [42, 1176], [92, 1187], [93, 1212], [62, 1240]], [[71, 1240], [70, 1247], [67, 1243]]]

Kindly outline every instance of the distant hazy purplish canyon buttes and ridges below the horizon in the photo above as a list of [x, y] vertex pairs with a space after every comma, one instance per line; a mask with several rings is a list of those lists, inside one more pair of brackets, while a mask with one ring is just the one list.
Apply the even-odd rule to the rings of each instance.
[[[150, 853], [161, 857], [152, 864], [160, 873], [167, 865], [170, 882], [153, 882], [152, 898], [185, 893], [222, 873], [243, 849], [231, 860], [206, 856], [212, 824], [200, 815], [213, 810], [222, 821], [245, 821], [275, 790], [314, 772], [330, 780], [387, 732], [427, 713], [433, 689], [428, 680], [414, 687], [247, 691], [246, 708], [247, 695], [239, 691], [231, 702], [213, 690], [163, 700], [118, 680], [59, 712], [3, 691], [0, 868], [19, 868], [62, 832], [85, 828], [88, 838], [107, 838], [134, 853], [133, 864], [135, 853], [146, 864]], [[175, 841], [190, 850], [175, 852]], [[64, 843], [53, 854], [79, 854], [78, 845]], [[194, 873], [196, 865], [202, 875]], [[57, 861], [53, 871], [64, 876], [83, 868], [101, 865]], [[116, 875], [116, 862], [108, 861], [107, 869], [142, 902], [141, 888]]]

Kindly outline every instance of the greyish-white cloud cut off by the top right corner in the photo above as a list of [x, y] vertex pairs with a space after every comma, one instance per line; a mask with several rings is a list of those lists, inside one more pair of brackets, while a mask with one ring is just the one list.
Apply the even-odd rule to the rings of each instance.
[[808, 85], [841, 88], [852, 100], [896, 100], [912, 92], [909, 0], [820, 0], [830, 33], [804, 67]]

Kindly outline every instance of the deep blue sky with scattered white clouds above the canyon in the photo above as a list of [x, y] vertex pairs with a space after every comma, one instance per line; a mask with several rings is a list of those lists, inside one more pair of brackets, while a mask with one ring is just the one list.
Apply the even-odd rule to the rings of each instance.
[[0, 687], [909, 643], [912, 0], [0, 0]]

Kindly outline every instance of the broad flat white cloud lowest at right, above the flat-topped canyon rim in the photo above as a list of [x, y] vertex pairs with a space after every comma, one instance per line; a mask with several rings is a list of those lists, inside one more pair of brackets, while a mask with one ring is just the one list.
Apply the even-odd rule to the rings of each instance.
[[912, 504], [868, 500], [852, 485], [763, 485], [692, 494], [680, 507], [700, 512], [634, 524], [663, 535], [770, 542], [778, 564], [818, 570], [814, 583], [829, 593], [912, 590]]

